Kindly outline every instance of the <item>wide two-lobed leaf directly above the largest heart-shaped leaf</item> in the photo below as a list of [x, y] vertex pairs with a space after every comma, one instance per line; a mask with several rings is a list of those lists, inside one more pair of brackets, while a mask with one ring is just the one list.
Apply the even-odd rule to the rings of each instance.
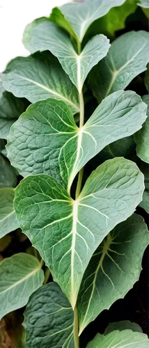
[[19, 173], [50, 174], [68, 186], [79, 170], [107, 144], [136, 132], [147, 106], [132, 91], [119, 90], [97, 106], [79, 129], [68, 106], [46, 100], [29, 106], [12, 126], [8, 158]]

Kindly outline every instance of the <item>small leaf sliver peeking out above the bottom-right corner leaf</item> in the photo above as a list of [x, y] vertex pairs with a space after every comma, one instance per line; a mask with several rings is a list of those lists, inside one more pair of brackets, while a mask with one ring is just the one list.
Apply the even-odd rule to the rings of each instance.
[[127, 330], [127, 329], [130, 329], [134, 332], [143, 333], [141, 327], [138, 324], [132, 323], [129, 320], [123, 320], [122, 322], [113, 322], [113, 323], [109, 324], [107, 326], [107, 329], [105, 329], [105, 331], [104, 331], [104, 335], [107, 335], [108, 333], [110, 333], [111, 331], [114, 331], [114, 330], [123, 331], [123, 330]]

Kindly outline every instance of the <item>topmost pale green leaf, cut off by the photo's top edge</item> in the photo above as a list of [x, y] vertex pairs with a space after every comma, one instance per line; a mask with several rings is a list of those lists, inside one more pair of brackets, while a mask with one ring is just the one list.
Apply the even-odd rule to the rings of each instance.
[[63, 3], [61, 12], [72, 25], [79, 42], [95, 19], [106, 15], [112, 7], [120, 6], [125, 0], [86, 0], [84, 3]]

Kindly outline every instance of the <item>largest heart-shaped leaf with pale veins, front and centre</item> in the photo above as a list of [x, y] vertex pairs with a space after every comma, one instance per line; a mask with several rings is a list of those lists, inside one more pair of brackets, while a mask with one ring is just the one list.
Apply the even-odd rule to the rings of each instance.
[[105, 161], [73, 200], [49, 175], [26, 177], [15, 189], [19, 226], [29, 237], [72, 308], [84, 271], [104, 237], [141, 202], [143, 174], [121, 157]]

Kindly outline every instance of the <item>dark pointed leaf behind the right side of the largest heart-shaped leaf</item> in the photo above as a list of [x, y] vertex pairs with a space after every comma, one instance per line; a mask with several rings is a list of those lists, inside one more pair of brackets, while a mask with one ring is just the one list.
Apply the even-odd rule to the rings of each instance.
[[133, 214], [120, 223], [97, 248], [85, 271], [77, 306], [79, 333], [112, 303], [127, 294], [139, 279], [148, 227]]

